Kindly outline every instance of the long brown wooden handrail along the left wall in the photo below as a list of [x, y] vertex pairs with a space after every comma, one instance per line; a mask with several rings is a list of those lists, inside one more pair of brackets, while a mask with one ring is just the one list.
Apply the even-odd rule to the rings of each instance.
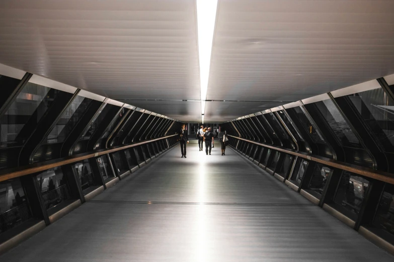
[[38, 163], [38, 164], [29, 165], [29, 166], [19, 167], [19, 168], [16, 168], [16, 170], [14, 169], [15, 171], [11, 171], [11, 172], [0, 175], [0, 182], [5, 181], [5, 180], [9, 180], [12, 178], [22, 177], [22, 176], [26, 176], [29, 174], [45, 171], [47, 169], [60, 167], [60, 166], [75, 163], [75, 162], [80, 162], [85, 159], [106, 155], [108, 153], [113, 153], [116, 151], [129, 149], [129, 148], [140, 146], [140, 145], [147, 144], [150, 142], [171, 138], [174, 136], [177, 136], [177, 135], [175, 134], [175, 135], [166, 136], [166, 137], [162, 137], [162, 138], [151, 139], [151, 140], [147, 140], [147, 141], [143, 141], [143, 142], [127, 145], [127, 146], [119, 146], [119, 147], [108, 149], [108, 150], [103, 150], [103, 151], [99, 151], [99, 152], [95, 152], [95, 153], [89, 153], [89, 154], [86, 154], [83, 156], [71, 156], [71, 157], [67, 157], [64, 160], [57, 161], [54, 163], [48, 163], [48, 164]]

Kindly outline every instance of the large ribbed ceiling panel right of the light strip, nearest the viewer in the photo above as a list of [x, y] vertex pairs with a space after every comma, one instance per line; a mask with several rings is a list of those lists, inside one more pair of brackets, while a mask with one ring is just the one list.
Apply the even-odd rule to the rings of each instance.
[[393, 1], [219, 0], [207, 99], [299, 100], [392, 74], [393, 12]]

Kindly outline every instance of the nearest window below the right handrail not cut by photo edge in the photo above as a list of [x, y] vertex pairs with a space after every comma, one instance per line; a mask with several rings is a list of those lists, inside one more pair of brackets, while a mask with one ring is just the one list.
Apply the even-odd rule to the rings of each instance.
[[335, 194], [334, 202], [358, 214], [368, 186], [369, 181], [365, 178], [344, 171], [338, 185], [337, 193]]

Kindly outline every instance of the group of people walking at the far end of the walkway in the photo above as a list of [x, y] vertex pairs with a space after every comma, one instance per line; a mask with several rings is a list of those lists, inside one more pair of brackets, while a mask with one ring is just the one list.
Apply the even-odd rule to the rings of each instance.
[[[179, 132], [179, 140], [181, 144], [181, 153], [182, 158], [186, 158], [186, 144], [189, 144], [189, 138], [187, 134], [187, 130], [185, 129], [185, 124], [182, 125], [182, 129]], [[200, 129], [197, 131], [197, 138], [198, 138], [198, 148], [199, 151], [203, 150], [203, 144], [205, 143], [205, 153], [211, 155], [211, 151], [213, 148], [215, 137], [218, 138], [220, 145], [221, 145], [221, 155], [225, 156], [226, 150], [226, 141], [227, 141], [227, 133], [224, 128], [220, 128], [216, 130], [216, 136], [211, 130], [211, 127], [204, 128], [203, 125], [200, 126]]]

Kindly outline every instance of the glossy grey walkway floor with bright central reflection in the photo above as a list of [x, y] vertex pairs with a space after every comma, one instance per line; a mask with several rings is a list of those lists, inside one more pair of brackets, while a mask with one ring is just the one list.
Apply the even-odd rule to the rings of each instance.
[[393, 261], [231, 149], [179, 146], [0, 261]]

